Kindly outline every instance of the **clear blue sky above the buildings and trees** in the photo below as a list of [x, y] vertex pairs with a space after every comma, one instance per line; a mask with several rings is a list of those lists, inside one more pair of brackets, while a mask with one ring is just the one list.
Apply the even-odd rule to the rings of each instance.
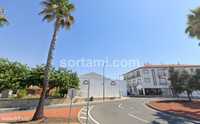
[[[53, 23], [42, 21], [41, 0], [1, 0], [9, 25], [0, 28], [0, 57], [34, 67], [46, 62]], [[198, 0], [71, 0], [75, 23], [58, 36], [53, 65], [62, 60], [137, 60], [140, 65], [199, 64], [198, 40], [185, 34], [187, 15]], [[138, 66], [138, 65], [137, 65]], [[103, 67], [68, 67], [78, 74]], [[107, 67], [118, 79], [134, 69]]]

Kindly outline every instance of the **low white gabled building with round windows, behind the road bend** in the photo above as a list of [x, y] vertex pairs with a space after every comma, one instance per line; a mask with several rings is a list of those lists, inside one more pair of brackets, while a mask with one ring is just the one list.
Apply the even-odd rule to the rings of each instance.
[[90, 97], [102, 97], [103, 96], [103, 80], [105, 82], [105, 97], [120, 97], [126, 96], [126, 81], [124, 80], [111, 80], [97, 73], [88, 73], [79, 76], [80, 79], [80, 93], [79, 96], [87, 97], [88, 86], [83, 82], [85, 80], [90, 81]]

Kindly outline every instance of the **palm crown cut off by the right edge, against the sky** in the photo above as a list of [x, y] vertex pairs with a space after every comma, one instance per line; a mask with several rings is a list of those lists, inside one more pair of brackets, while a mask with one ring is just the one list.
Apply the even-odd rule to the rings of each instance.
[[188, 15], [188, 23], [185, 32], [192, 38], [200, 40], [200, 7], [191, 10]]

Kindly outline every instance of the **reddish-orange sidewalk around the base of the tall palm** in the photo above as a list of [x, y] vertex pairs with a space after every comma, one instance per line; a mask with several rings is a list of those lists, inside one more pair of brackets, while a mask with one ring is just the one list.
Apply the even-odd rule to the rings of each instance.
[[[78, 113], [80, 107], [72, 108], [71, 119], [72, 122], [78, 122]], [[22, 122], [31, 120], [34, 111], [17, 111], [17, 112], [8, 112], [0, 114], [0, 123], [7, 122]], [[46, 108], [44, 112], [45, 116], [48, 118], [47, 122], [56, 124], [56, 123], [66, 123], [69, 117], [69, 108]]]

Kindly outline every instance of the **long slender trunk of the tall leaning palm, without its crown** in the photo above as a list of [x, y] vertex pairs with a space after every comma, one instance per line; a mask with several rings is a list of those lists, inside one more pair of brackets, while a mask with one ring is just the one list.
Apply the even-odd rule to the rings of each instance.
[[34, 113], [32, 120], [39, 120], [39, 119], [44, 117], [45, 97], [46, 97], [46, 92], [47, 92], [48, 87], [49, 87], [49, 70], [50, 70], [51, 65], [52, 65], [53, 52], [55, 50], [56, 38], [57, 38], [59, 28], [60, 28], [59, 23], [58, 23], [58, 21], [56, 21], [53, 37], [52, 37], [51, 44], [50, 44], [50, 47], [49, 47], [47, 63], [46, 63], [46, 66], [45, 66], [42, 93], [41, 93], [40, 100], [39, 100], [37, 109]]

